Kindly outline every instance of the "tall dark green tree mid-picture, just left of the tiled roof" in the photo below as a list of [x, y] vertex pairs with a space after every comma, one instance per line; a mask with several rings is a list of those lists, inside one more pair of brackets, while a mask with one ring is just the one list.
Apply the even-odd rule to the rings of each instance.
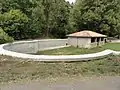
[[45, 35], [64, 38], [71, 26], [69, 23], [69, 4], [65, 0], [43, 0], [43, 11], [45, 17]]

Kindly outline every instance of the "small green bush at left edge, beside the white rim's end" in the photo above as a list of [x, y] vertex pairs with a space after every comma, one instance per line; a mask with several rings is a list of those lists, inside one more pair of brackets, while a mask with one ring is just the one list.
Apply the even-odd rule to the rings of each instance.
[[0, 44], [12, 41], [14, 41], [14, 39], [4, 32], [2, 28], [0, 28]]

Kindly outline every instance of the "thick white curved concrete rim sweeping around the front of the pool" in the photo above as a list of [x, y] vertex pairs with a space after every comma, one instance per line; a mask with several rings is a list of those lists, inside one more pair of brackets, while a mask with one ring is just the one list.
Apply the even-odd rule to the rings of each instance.
[[[35, 40], [34, 40], [35, 41]], [[38, 41], [38, 40], [37, 40]], [[15, 43], [21, 43], [25, 41], [19, 41]], [[32, 42], [32, 41], [28, 41]], [[12, 57], [17, 57], [17, 58], [23, 58], [23, 59], [31, 59], [33, 61], [44, 61], [44, 62], [53, 62], [53, 61], [87, 61], [91, 59], [98, 59], [100, 57], [108, 56], [108, 55], [119, 55], [120, 51], [113, 51], [113, 50], [105, 50], [102, 52], [98, 53], [92, 53], [92, 54], [83, 54], [83, 55], [31, 55], [31, 54], [24, 54], [24, 53], [18, 53], [18, 52], [13, 52], [13, 51], [8, 51], [5, 50], [3, 47], [7, 44], [2, 44], [0, 45], [0, 55], [6, 55], [6, 56], [12, 56]], [[69, 47], [68, 46], [60, 46], [60, 47], [50, 47], [46, 48], [45, 50], [48, 49], [56, 49], [56, 48], [63, 48], [63, 47]]]

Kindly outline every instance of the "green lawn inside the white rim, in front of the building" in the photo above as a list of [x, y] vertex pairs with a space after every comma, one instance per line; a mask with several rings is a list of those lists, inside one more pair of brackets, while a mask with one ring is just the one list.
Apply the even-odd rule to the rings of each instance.
[[106, 49], [120, 51], [120, 43], [107, 43], [103, 46], [92, 49], [82, 49], [71, 46], [61, 49], [38, 51], [36, 54], [37, 55], [79, 55], [79, 54], [95, 53]]

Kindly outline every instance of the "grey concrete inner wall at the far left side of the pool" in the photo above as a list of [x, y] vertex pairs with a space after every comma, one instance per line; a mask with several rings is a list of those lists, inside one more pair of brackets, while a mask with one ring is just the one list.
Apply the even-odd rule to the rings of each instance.
[[3, 48], [9, 51], [19, 53], [36, 53], [38, 50], [44, 50], [51, 47], [65, 46], [67, 42], [67, 39], [20, 41], [15, 43], [9, 43]]

